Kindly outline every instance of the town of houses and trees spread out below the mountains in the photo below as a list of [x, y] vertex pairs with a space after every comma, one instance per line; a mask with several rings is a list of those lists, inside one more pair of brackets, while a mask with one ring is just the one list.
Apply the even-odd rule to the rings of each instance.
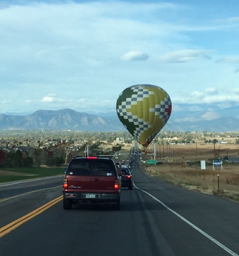
[[[134, 143], [128, 132], [81, 132], [71, 130], [0, 130], [0, 165], [6, 167], [60, 166], [75, 156], [106, 155]], [[239, 144], [239, 132], [163, 131], [154, 143]]]

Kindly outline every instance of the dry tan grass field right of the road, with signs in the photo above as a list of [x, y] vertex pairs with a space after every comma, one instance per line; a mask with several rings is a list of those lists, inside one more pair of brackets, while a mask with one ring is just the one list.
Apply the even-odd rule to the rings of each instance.
[[[220, 147], [220, 148], [219, 148]], [[126, 147], [125, 147], [126, 149]], [[215, 144], [215, 152], [220, 156], [239, 156], [239, 145]], [[214, 144], [168, 145], [159, 149], [157, 145], [156, 160], [163, 164], [146, 164], [147, 159], [154, 159], [153, 145], [141, 155], [141, 166], [148, 175], [159, 177], [177, 186], [202, 193], [213, 194], [239, 202], [239, 163], [228, 164], [212, 170]], [[160, 158], [161, 156], [161, 158]], [[206, 162], [206, 170], [201, 170], [201, 160]], [[219, 176], [218, 176], [219, 174]]]

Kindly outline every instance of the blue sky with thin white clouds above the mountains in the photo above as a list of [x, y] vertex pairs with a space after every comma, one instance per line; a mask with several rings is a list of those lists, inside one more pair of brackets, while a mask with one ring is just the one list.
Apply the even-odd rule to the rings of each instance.
[[239, 105], [238, 0], [0, 0], [0, 28], [0, 113], [115, 111], [134, 84]]

